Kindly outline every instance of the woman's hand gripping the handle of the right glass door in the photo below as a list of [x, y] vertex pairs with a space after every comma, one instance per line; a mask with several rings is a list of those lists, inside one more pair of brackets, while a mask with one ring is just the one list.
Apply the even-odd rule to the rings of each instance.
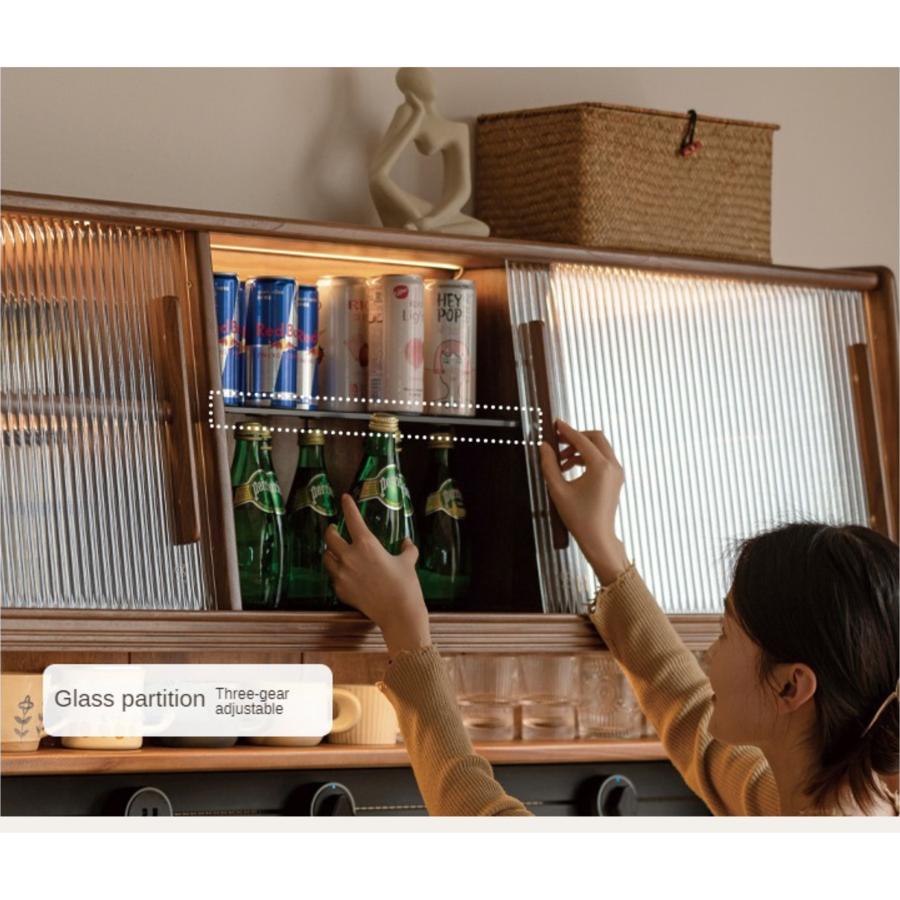
[[[600, 584], [610, 584], [629, 564], [615, 527], [625, 473], [602, 432], [576, 431], [557, 419], [556, 433], [560, 443], [567, 445], [560, 453], [561, 464], [556, 461], [553, 447], [546, 443], [540, 446], [547, 490]], [[567, 482], [563, 472], [575, 465], [584, 466], [584, 473]]]

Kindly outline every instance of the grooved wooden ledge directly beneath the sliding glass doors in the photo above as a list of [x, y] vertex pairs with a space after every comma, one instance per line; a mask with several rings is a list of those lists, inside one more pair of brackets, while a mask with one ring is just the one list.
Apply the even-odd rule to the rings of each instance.
[[[677, 616], [692, 650], [706, 650], [721, 617]], [[385, 650], [381, 632], [359, 613], [174, 612], [4, 609], [4, 653], [296, 653]], [[436, 614], [431, 635], [442, 653], [585, 653], [604, 644], [587, 616]]]

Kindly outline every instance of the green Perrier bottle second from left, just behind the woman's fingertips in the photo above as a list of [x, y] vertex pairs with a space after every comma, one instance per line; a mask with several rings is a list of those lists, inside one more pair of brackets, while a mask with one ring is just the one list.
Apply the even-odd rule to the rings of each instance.
[[325, 530], [338, 518], [335, 492], [322, 459], [321, 431], [301, 433], [297, 472], [287, 498], [286, 609], [333, 609], [329, 574], [322, 565]]

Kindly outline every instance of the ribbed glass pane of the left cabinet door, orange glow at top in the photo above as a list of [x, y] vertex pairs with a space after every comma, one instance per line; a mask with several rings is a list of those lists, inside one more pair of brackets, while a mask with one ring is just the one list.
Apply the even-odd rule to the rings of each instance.
[[177, 293], [174, 232], [3, 217], [4, 607], [211, 607], [173, 544], [148, 302]]

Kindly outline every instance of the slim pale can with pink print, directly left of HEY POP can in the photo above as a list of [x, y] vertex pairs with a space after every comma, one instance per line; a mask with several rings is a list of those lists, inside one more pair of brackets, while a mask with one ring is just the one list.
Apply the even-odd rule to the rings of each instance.
[[366, 288], [369, 410], [419, 415], [425, 286], [419, 275], [379, 275]]

